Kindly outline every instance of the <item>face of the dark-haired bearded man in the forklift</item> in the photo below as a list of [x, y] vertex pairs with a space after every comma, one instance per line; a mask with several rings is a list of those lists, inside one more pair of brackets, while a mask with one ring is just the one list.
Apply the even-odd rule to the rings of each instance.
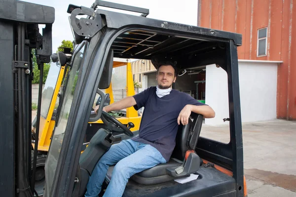
[[171, 88], [176, 81], [175, 69], [173, 66], [160, 66], [156, 75], [156, 80], [160, 89]]

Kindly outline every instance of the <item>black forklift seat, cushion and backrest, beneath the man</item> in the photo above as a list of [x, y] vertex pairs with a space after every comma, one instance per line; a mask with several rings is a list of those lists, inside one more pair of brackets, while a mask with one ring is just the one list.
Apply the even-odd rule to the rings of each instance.
[[[131, 177], [137, 183], [149, 185], [189, 176], [198, 171], [201, 160], [195, 153], [196, 144], [201, 131], [203, 116], [192, 113], [193, 121], [185, 126], [180, 125], [176, 136], [176, 146], [168, 163], [158, 164]], [[111, 179], [113, 167], [107, 173], [107, 181]]]

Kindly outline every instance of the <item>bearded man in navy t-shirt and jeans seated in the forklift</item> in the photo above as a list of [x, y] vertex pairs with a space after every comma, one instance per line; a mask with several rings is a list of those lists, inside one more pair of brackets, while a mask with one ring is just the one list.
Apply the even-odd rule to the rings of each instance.
[[[131, 106], [136, 110], [145, 107], [145, 110], [139, 136], [111, 146], [96, 165], [85, 197], [97, 197], [108, 167], [114, 164], [116, 165], [104, 197], [121, 197], [132, 175], [169, 161], [175, 147], [178, 125], [188, 124], [191, 112], [202, 114], [205, 118], [215, 117], [210, 106], [172, 89], [176, 76], [176, 67], [172, 63], [164, 63], [157, 69], [157, 87], [150, 87], [140, 94], [103, 108], [106, 112]], [[95, 110], [97, 109], [98, 106]]]

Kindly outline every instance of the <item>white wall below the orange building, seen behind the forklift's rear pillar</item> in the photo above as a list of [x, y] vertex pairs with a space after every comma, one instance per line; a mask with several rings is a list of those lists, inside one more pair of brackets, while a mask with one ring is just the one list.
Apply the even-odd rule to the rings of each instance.
[[[277, 63], [239, 61], [239, 85], [242, 122], [276, 118]], [[205, 124], [219, 125], [229, 117], [227, 74], [215, 65], [206, 68], [206, 103], [216, 117]]]

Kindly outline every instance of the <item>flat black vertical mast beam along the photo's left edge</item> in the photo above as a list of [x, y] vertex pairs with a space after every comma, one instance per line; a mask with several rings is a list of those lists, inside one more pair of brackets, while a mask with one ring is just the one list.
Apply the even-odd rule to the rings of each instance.
[[0, 44], [6, 46], [5, 51], [1, 50], [0, 52], [0, 92], [5, 95], [0, 97], [0, 148], [2, 151], [0, 154], [0, 194], [7, 197], [15, 196], [14, 74], [11, 66], [7, 66], [11, 65], [14, 59], [13, 37], [13, 25], [9, 22], [0, 21]]

